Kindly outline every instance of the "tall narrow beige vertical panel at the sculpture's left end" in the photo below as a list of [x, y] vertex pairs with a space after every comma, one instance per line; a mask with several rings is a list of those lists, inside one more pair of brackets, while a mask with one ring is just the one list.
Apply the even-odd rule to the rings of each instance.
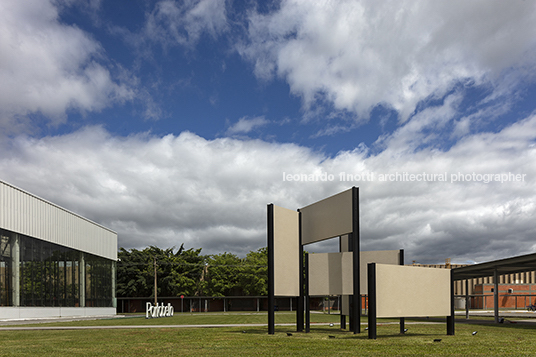
[[274, 207], [274, 294], [299, 296], [298, 212]]

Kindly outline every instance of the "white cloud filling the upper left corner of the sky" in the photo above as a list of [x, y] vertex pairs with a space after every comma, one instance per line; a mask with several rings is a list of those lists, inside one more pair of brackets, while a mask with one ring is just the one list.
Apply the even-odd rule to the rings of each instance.
[[0, 4], [0, 128], [28, 128], [27, 115], [42, 114], [53, 125], [66, 112], [99, 111], [133, 97], [99, 63], [100, 45], [76, 26], [59, 21], [48, 0]]

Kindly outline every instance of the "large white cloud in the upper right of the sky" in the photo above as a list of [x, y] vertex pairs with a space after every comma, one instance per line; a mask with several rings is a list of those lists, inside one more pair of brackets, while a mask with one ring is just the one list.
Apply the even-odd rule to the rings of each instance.
[[366, 120], [381, 104], [405, 121], [458, 81], [511, 93], [534, 73], [534, 23], [530, 1], [284, 0], [250, 13], [238, 50], [258, 77], [286, 80], [305, 108], [328, 102]]

